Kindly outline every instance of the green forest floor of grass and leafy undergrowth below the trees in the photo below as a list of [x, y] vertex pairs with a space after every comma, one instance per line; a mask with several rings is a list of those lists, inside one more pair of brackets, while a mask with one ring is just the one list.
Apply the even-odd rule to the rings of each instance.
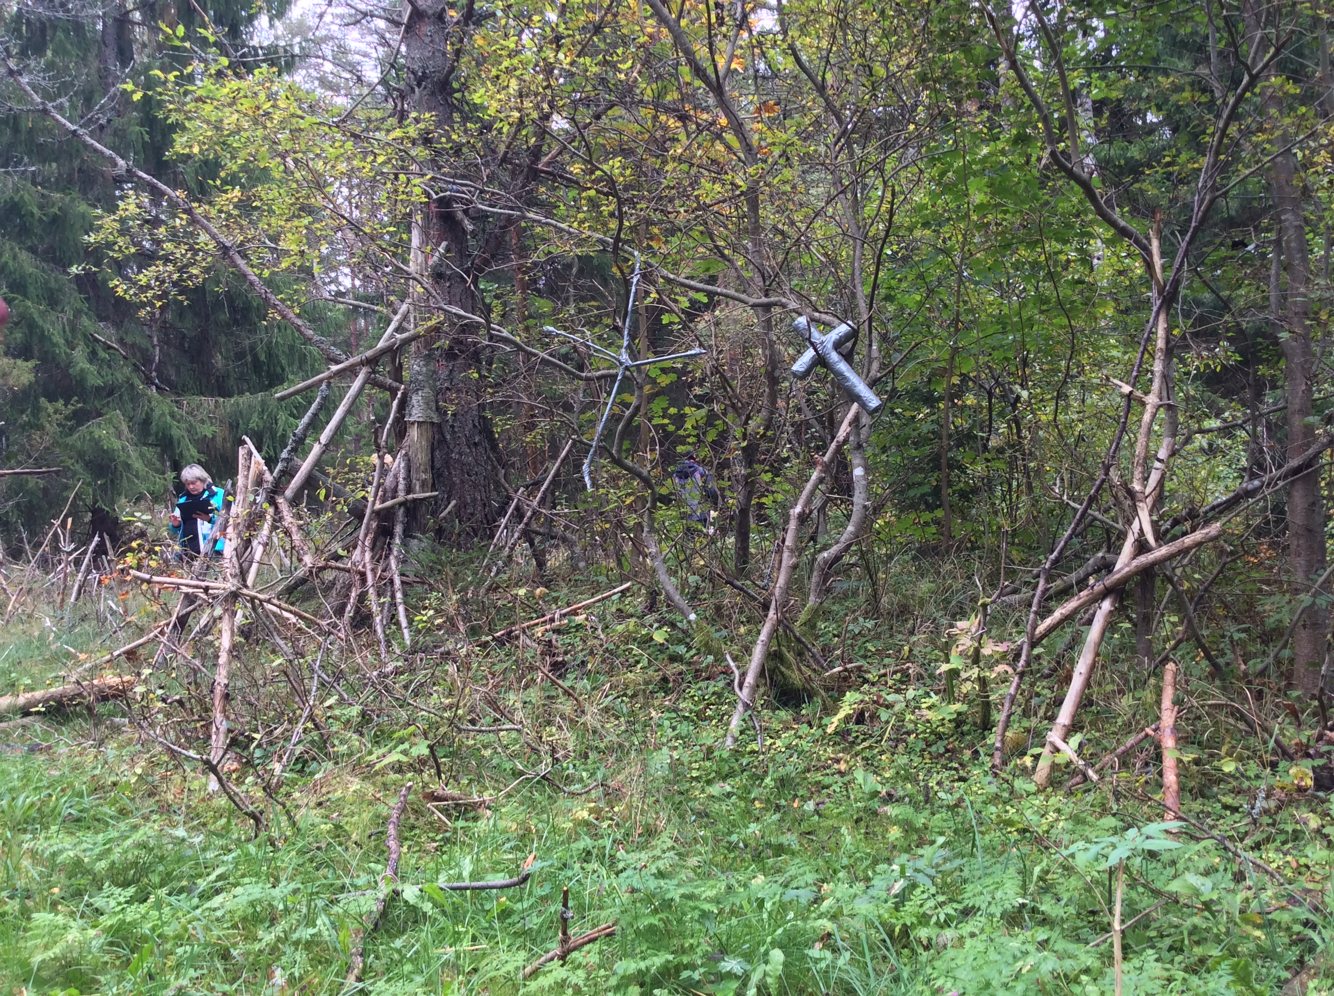
[[[443, 783], [492, 796], [480, 805], [422, 799], [436, 785], [423, 727], [439, 720], [382, 721], [334, 696], [325, 743], [299, 755], [257, 836], [115, 703], [4, 723], [0, 993], [1091, 996], [1115, 985], [1122, 860], [1127, 995], [1293, 993], [1303, 967], [1309, 996], [1334, 992], [1334, 969], [1321, 976], [1334, 808], [1226, 711], [1185, 708], [1179, 725], [1183, 808], [1233, 851], [1161, 824], [1154, 751], [1095, 787], [1037, 792], [1025, 752], [1050, 712], [1041, 697], [992, 777], [971, 692], [951, 704], [938, 684], [946, 639], [904, 643], [842, 611], [858, 680], [770, 703], [763, 749], [747, 727], [723, 751], [731, 672], [639, 612], [611, 608], [600, 636], [563, 632], [560, 685], [520, 685], [524, 735], [435, 735]], [[71, 653], [111, 644], [53, 619], [4, 628], [0, 691], [60, 683]], [[1086, 757], [1157, 719], [1141, 683], [1095, 688]], [[1202, 673], [1189, 695], [1221, 692]], [[263, 801], [255, 760], [235, 779]], [[400, 889], [347, 987], [408, 781]], [[530, 855], [516, 888], [439, 888], [518, 876]], [[615, 933], [520, 983], [556, 947], [564, 887], [572, 935]]]

